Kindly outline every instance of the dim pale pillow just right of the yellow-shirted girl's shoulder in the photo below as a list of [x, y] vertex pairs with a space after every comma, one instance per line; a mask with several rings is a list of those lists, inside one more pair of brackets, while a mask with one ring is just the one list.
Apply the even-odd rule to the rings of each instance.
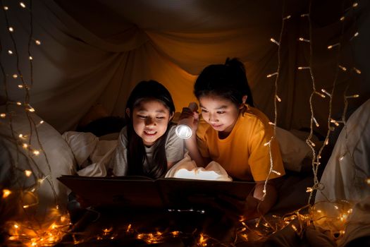
[[279, 127], [276, 127], [276, 139], [280, 146], [284, 168], [290, 171], [300, 171], [303, 159], [312, 155], [309, 145], [290, 131]]

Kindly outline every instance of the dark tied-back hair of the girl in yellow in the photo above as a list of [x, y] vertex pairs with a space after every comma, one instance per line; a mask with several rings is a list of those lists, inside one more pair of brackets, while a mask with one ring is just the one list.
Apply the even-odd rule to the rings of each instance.
[[237, 107], [247, 95], [247, 104], [253, 105], [244, 64], [238, 59], [226, 59], [225, 64], [211, 64], [199, 74], [194, 85], [194, 95], [199, 97], [217, 95], [231, 100]]

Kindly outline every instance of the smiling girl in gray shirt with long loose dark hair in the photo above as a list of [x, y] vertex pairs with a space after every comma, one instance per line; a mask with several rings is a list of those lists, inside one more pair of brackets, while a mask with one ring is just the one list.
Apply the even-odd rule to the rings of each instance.
[[175, 105], [170, 92], [154, 80], [142, 81], [126, 104], [128, 121], [118, 138], [110, 167], [115, 176], [164, 177], [184, 157], [183, 139], [175, 134], [171, 119]]

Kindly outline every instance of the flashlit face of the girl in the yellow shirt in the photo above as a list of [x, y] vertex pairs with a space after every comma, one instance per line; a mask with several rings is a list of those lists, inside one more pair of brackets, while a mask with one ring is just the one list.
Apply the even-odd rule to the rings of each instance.
[[239, 116], [238, 107], [231, 100], [216, 95], [199, 98], [203, 119], [215, 131], [228, 135], [234, 128]]

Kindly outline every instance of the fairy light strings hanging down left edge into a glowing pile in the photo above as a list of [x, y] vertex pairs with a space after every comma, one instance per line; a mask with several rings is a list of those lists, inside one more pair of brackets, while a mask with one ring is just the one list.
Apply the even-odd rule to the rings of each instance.
[[[60, 215], [58, 212], [58, 197], [56, 194], [56, 190], [54, 188], [54, 183], [51, 178], [51, 165], [49, 162], [49, 159], [47, 157], [46, 152], [44, 151], [44, 147], [42, 145], [42, 141], [39, 138], [39, 133], [37, 131], [37, 128], [39, 125], [41, 125], [44, 121], [40, 121], [39, 123], [36, 123], [35, 120], [32, 118], [32, 112], [35, 112], [35, 109], [33, 109], [30, 106], [30, 87], [33, 85], [33, 57], [31, 53], [31, 44], [33, 38], [33, 16], [32, 16], [32, 0], [29, 1], [29, 8], [24, 4], [23, 1], [19, 2], [19, 5], [23, 10], [28, 11], [30, 13], [30, 30], [29, 30], [29, 37], [28, 37], [28, 43], [27, 43], [27, 54], [29, 59], [29, 66], [30, 66], [30, 83], [25, 82], [25, 78], [23, 76], [23, 73], [20, 69], [20, 54], [18, 50], [18, 46], [15, 40], [15, 37], [13, 36], [13, 32], [16, 32], [17, 29], [14, 28], [8, 19], [8, 11], [9, 6], [4, 5], [4, 1], [0, 0], [0, 6], [4, 13], [4, 19], [5, 19], [5, 25], [8, 30], [9, 37], [11, 38], [11, 42], [13, 44], [13, 50], [9, 49], [8, 54], [10, 56], [14, 55], [16, 56], [16, 70], [18, 74], [13, 74], [13, 78], [17, 79], [18, 77], [21, 80], [21, 85], [18, 85], [18, 88], [25, 90], [25, 100], [23, 104], [21, 102], [12, 102], [10, 100], [10, 95], [8, 92], [8, 80], [7, 80], [7, 74], [4, 69], [3, 64], [0, 61], [0, 68], [1, 73], [4, 76], [4, 91], [5, 91], [5, 109], [6, 113], [1, 113], [1, 119], [8, 118], [8, 127], [11, 132], [11, 136], [1, 134], [1, 138], [7, 139], [10, 143], [12, 143], [16, 147], [16, 160], [11, 158], [11, 170], [13, 171], [10, 176], [14, 176], [16, 179], [13, 180], [13, 184], [18, 184], [20, 186], [20, 189], [16, 189], [18, 191], [19, 195], [17, 196], [17, 199], [20, 201], [21, 205], [23, 205], [23, 212], [25, 213], [26, 218], [22, 220], [22, 222], [14, 222], [14, 221], [8, 221], [5, 222], [5, 224], [8, 226], [8, 231], [10, 234], [8, 241], [22, 241], [24, 243], [30, 243], [32, 246], [50, 246], [51, 244], [55, 244], [57, 241], [60, 241], [62, 236], [66, 234], [66, 228], [69, 227], [69, 217], [67, 219], [66, 216], [62, 215], [58, 218], [56, 222], [51, 224], [47, 229], [44, 229], [44, 223], [45, 222], [39, 222], [37, 217], [29, 210], [27, 210], [30, 207], [37, 207], [39, 205], [39, 198], [35, 194], [35, 191], [39, 189], [42, 182], [45, 180], [49, 184], [49, 187], [51, 188], [51, 192], [53, 194], [54, 198], [54, 205], [56, 207], [54, 209], [51, 208], [51, 214], [55, 215], [55, 212], [57, 212], [57, 215]], [[13, 8], [13, 5], [11, 6]], [[11, 10], [13, 11], [13, 10]], [[35, 40], [35, 43], [37, 45], [41, 44], [39, 40]], [[2, 44], [0, 44], [0, 52], [3, 51]], [[15, 112], [12, 112], [10, 110], [11, 104], [16, 104], [17, 107], [21, 107], [23, 105], [25, 115], [27, 116], [27, 120], [29, 123], [30, 133], [27, 133], [27, 135], [24, 135], [23, 133], [16, 133], [14, 129], [14, 122], [13, 122], [13, 116], [16, 114]], [[1, 122], [0, 122], [1, 124]], [[32, 136], [35, 136], [37, 140], [38, 149], [32, 148]], [[27, 141], [28, 138], [28, 141]], [[23, 149], [26, 151], [24, 153], [20, 147], [23, 147]], [[8, 150], [9, 154], [11, 153], [11, 150]], [[48, 174], [44, 174], [42, 169], [38, 166], [36, 160], [34, 157], [38, 156], [42, 153], [45, 162], [47, 164], [47, 170]], [[27, 157], [24, 159], [23, 164], [26, 168], [22, 169], [19, 167], [20, 165], [20, 156]], [[31, 186], [25, 186], [25, 180], [23, 180], [22, 177], [18, 176], [16, 171], [22, 171], [25, 176], [30, 177], [32, 175], [33, 179], [35, 179], [35, 183]], [[24, 183], [23, 183], [24, 182]], [[18, 188], [18, 187], [17, 187]], [[11, 190], [8, 190], [6, 188], [2, 191], [2, 199], [6, 199], [8, 195], [12, 193]], [[25, 198], [27, 197], [27, 203], [25, 201]], [[49, 209], [50, 210], [50, 209]], [[56, 210], [56, 211], [55, 211]], [[8, 215], [9, 216], [9, 215]]]

